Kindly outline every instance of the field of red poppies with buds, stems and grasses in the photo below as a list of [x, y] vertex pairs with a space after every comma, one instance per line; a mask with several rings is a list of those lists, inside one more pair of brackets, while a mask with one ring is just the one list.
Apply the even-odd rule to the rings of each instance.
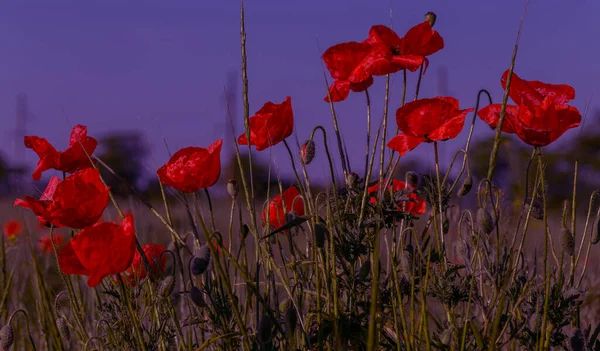
[[[227, 141], [202, 140], [157, 166], [161, 199], [149, 200], [95, 154], [84, 125], [64, 150], [24, 138], [39, 157], [27, 176], [58, 172], [0, 205], [0, 350], [600, 350], [600, 206], [596, 191], [578, 192], [586, 155], [569, 165], [561, 208], [549, 200], [545, 147], [582, 124], [569, 82], [519, 75], [517, 35], [491, 83], [503, 96], [423, 97], [435, 54], [452, 50], [429, 12], [403, 33], [374, 25], [324, 50], [315, 74], [331, 120], [292, 143], [293, 96], [249, 107], [244, 20], [242, 5], [236, 179], [222, 179]], [[394, 75], [400, 101], [389, 99]], [[374, 85], [385, 96], [369, 95]], [[336, 106], [357, 97], [367, 138], [349, 154]], [[480, 179], [478, 128], [495, 130]], [[441, 167], [439, 149], [460, 133], [466, 144]], [[506, 137], [529, 154], [522, 198], [497, 185]], [[263, 196], [253, 155], [272, 148], [289, 156], [294, 184], [274, 179]], [[399, 172], [417, 148], [433, 150], [431, 171]], [[218, 182], [226, 196], [211, 194]]]

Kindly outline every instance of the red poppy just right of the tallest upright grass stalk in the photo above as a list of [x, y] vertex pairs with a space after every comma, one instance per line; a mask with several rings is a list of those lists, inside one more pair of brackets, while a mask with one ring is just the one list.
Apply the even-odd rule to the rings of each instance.
[[[250, 117], [250, 145], [255, 145], [257, 151], [277, 145], [292, 134], [294, 130], [294, 113], [292, 98], [286, 97], [281, 104], [267, 102]], [[246, 132], [238, 138], [240, 145], [248, 145]]]

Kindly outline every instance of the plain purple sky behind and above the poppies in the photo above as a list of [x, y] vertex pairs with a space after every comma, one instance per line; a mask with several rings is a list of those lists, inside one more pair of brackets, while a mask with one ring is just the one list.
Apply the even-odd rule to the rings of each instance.
[[[438, 15], [435, 29], [445, 48], [430, 57], [421, 97], [452, 95], [467, 108], [474, 106], [477, 91], [486, 88], [500, 102], [499, 80], [510, 62], [524, 0], [391, 5], [393, 29], [399, 35], [421, 22], [427, 11]], [[583, 113], [590, 96], [596, 93], [597, 101], [600, 91], [598, 14], [597, 0], [532, 1], [515, 71], [524, 79], [574, 86], [573, 104]], [[247, 1], [251, 114], [268, 100], [279, 103], [290, 95], [300, 142], [317, 124], [333, 131], [329, 106], [322, 100], [318, 45], [325, 50], [340, 42], [361, 41], [372, 25], [389, 23], [390, 1]], [[15, 152], [18, 92], [28, 94], [34, 115], [27, 133], [46, 137], [58, 148], [68, 141], [69, 122], [87, 125], [92, 136], [141, 129], [160, 164], [168, 158], [161, 137], [172, 151], [206, 147], [224, 136], [230, 140], [222, 96], [228, 72], [234, 70], [236, 77], [240, 72], [238, 1], [5, 1], [0, 5], [0, 51], [0, 150], [10, 157]], [[447, 89], [438, 83], [443, 70], [448, 72]], [[374, 121], [381, 117], [384, 81], [379, 77], [370, 89]], [[411, 74], [409, 85], [415, 81], [416, 74]], [[401, 75], [392, 82], [393, 123]], [[237, 88], [241, 91], [241, 84]], [[238, 97], [241, 101], [241, 94]], [[594, 107], [598, 103], [592, 101]], [[353, 93], [336, 108], [352, 164], [362, 172], [365, 97]], [[234, 118], [239, 134], [241, 103]], [[476, 128], [476, 137], [489, 135], [489, 127]], [[444, 143], [443, 156], [464, 145], [466, 136], [467, 128], [455, 141]], [[334, 147], [333, 133], [330, 141]], [[35, 154], [24, 154], [33, 167]], [[432, 147], [421, 145], [414, 155], [433, 160]], [[261, 152], [261, 157], [269, 156], [284, 175], [290, 174], [283, 145], [272, 155]], [[324, 165], [324, 157], [316, 163], [312, 172], [320, 177], [325, 172], [318, 164]], [[147, 164], [154, 168], [151, 160]]]

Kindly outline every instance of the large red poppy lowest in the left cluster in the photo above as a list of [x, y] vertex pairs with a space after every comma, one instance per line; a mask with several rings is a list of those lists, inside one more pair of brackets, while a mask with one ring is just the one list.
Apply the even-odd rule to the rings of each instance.
[[133, 217], [123, 223], [94, 224], [82, 229], [58, 253], [60, 269], [65, 274], [87, 275], [88, 286], [97, 286], [111, 274], [125, 271], [133, 261], [135, 229]]

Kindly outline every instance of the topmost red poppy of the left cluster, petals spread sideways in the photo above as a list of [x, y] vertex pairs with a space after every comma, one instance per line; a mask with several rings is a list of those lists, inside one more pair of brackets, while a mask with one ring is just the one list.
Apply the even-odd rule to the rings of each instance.
[[87, 155], [91, 156], [96, 150], [96, 146], [98, 146], [98, 141], [89, 137], [87, 127], [80, 124], [73, 127], [69, 146], [64, 151], [56, 151], [54, 146], [44, 138], [26, 136], [25, 147], [35, 151], [40, 158], [32, 174], [33, 180], [39, 180], [42, 173], [49, 169], [72, 173], [92, 167]]

